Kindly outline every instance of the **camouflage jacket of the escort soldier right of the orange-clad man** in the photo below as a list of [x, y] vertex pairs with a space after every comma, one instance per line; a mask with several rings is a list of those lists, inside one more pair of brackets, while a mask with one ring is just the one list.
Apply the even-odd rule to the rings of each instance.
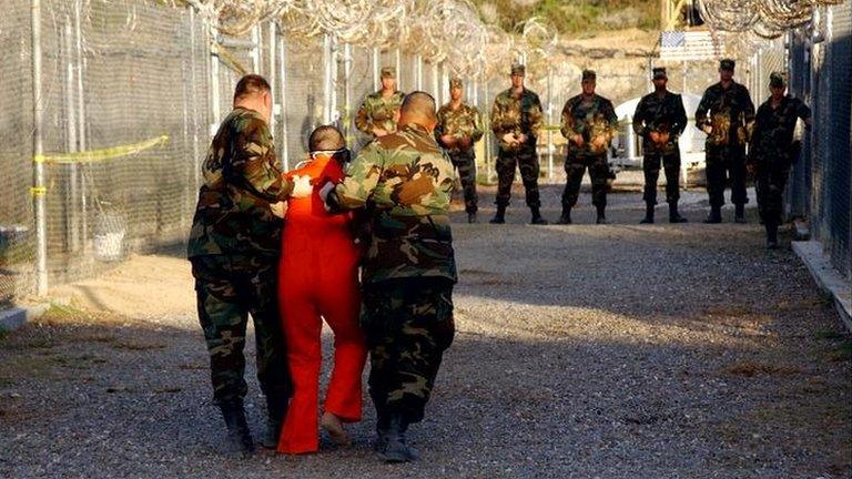
[[362, 281], [409, 277], [456, 281], [449, 197], [453, 165], [418, 125], [376, 139], [328, 194], [332, 211], [366, 207], [371, 236]]

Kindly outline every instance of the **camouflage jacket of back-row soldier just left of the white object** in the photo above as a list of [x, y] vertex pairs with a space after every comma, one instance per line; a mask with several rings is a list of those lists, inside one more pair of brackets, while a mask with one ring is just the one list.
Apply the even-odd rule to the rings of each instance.
[[[569, 154], [578, 156], [599, 156], [606, 154], [609, 142], [618, 132], [618, 116], [612, 102], [599, 94], [586, 100], [582, 94], [570, 98], [562, 108], [562, 136], [568, 139]], [[575, 135], [581, 135], [582, 146], [574, 141]], [[602, 137], [604, 145], [592, 146], [596, 139]]]

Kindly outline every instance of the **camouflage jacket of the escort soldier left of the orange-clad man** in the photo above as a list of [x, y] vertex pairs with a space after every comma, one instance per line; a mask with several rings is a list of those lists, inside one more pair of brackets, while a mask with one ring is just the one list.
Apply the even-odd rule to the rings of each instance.
[[232, 111], [213, 137], [202, 173], [187, 256], [278, 254], [282, 222], [270, 203], [286, 200], [293, 184], [282, 177], [263, 116]]

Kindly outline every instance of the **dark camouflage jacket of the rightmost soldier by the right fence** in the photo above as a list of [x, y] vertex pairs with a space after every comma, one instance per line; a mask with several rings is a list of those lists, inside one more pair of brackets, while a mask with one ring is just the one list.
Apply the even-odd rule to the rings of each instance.
[[754, 132], [749, 145], [749, 163], [782, 164], [788, 166], [795, 161], [791, 156], [798, 149], [793, 147], [793, 132], [798, 119], [811, 118], [811, 109], [803, 101], [792, 95], [781, 99], [777, 109], [772, 108], [770, 98], [758, 109], [754, 121]]

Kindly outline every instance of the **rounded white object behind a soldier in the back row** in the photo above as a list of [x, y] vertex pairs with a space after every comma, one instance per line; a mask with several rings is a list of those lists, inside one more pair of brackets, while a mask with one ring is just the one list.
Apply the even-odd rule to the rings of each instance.
[[[696, 128], [693, 116], [701, 96], [683, 93], [683, 109], [687, 111], [687, 129], [680, 135], [680, 171], [681, 180], [687, 181], [689, 170], [703, 170], [704, 167], [704, 132]], [[640, 98], [628, 100], [616, 106], [619, 134], [612, 144], [612, 156], [609, 164], [613, 171], [641, 170], [642, 167], [642, 139], [633, 133], [633, 113]], [[689, 182], [692, 183], [692, 182]], [[686, 183], [684, 183], [686, 184]]]

